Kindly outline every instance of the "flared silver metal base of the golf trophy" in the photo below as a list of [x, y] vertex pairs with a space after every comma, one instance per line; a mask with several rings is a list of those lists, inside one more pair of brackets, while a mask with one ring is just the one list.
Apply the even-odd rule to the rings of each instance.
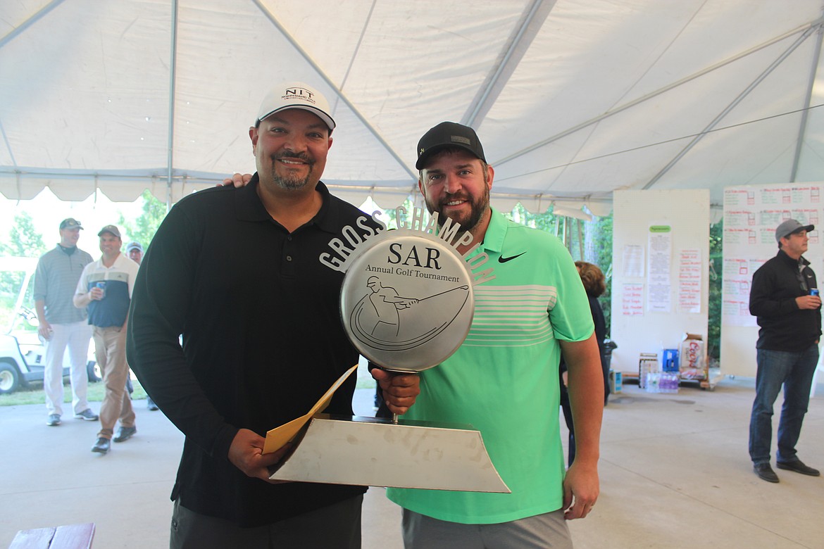
[[428, 421], [313, 416], [269, 477], [293, 482], [510, 493], [480, 431]]

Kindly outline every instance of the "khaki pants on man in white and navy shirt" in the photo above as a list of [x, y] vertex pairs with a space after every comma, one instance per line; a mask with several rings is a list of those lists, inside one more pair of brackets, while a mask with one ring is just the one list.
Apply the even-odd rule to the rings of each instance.
[[97, 328], [92, 332], [95, 342], [95, 358], [101, 367], [105, 397], [101, 405], [101, 430], [98, 437], [111, 439], [115, 423], [134, 426], [132, 400], [126, 393], [129, 365], [126, 364], [126, 328]]

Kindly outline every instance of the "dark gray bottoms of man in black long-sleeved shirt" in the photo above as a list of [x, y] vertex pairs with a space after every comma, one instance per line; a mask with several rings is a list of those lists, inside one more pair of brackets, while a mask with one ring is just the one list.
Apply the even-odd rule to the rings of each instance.
[[227, 520], [195, 513], [175, 501], [171, 513], [171, 549], [360, 549], [363, 495], [297, 515], [291, 519], [241, 528]]

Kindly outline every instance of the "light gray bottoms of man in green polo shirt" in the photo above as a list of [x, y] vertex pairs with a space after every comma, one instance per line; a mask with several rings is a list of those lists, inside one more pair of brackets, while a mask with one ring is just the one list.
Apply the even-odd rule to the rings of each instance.
[[498, 524], [461, 524], [403, 511], [406, 549], [572, 549], [564, 511]]

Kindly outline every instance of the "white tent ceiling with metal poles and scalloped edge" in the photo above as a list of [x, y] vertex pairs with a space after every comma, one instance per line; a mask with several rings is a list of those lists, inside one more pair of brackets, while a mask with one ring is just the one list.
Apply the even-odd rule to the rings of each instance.
[[[253, 171], [269, 87], [315, 84], [323, 180], [393, 207], [435, 123], [477, 129], [493, 202], [818, 181], [822, 0], [3, 0], [0, 193], [175, 201]], [[569, 204], [567, 204], [569, 205]]]

